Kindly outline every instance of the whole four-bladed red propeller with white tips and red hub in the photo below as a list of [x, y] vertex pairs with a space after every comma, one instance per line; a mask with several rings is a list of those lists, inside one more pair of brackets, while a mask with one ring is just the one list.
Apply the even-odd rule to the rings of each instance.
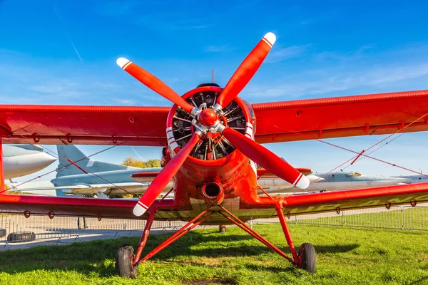
[[221, 110], [229, 105], [229, 103], [232, 102], [236, 96], [238, 96], [240, 91], [248, 84], [251, 78], [253, 78], [275, 41], [276, 36], [273, 33], [266, 33], [230, 78], [228, 84], [226, 84], [225, 88], [220, 93], [215, 106], [213, 106], [213, 108], [205, 108], [203, 110], [199, 110], [187, 103], [180, 97], [180, 95], [175, 93], [165, 83], [156, 78], [156, 76], [148, 73], [148, 71], [145, 71], [135, 63], [132, 63], [126, 58], [118, 58], [116, 63], [124, 71], [131, 74], [131, 76], [146, 85], [148, 88], [151, 88], [156, 93], [159, 93], [163, 97], [183, 108], [183, 110], [194, 115], [195, 119], [192, 123], [195, 126], [195, 129], [197, 129], [188, 143], [165, 165], [165, 167], [163, 167], [161, 172], [156, 175], [156, 178], [151, 182], [151, 185], [148, 187], [146, 192], [144, 192], [143, 196], [141, 196], [141, 199], [134, 207], [133, 214], [141, 216], [147, 211], [148, 207], [153, 204], [165, 186], [168, 185], [170, 180], [183, 165], [186, 158], [193, 150], [193, 147], [198, 143], [200, 136], [203, 135], [203, 133], [208, 132], [216, 133], [219, 131], [220, 133], [223, 133], [224, 137], [235, 148], [240, 150], [240, 152], [243, 152], [244, 155], [249, 157], [258, 165], [265, 167], [267, 171], [277, 175], [277, 177], [292, 183], [292, 185], [295, 185], [300, 189], [306, 189], [309, 186], [310, 180], [285, 162], [285, 160], [282, 160], [280, 157], [275, 155], [275, 153], [267, 150], [267, 148], [259, 145], [254, 140], [251, 140], [238, 131], [233, 130], [233, 128], [226, 128], [219, 120], [219, 115], [222, 113]]

